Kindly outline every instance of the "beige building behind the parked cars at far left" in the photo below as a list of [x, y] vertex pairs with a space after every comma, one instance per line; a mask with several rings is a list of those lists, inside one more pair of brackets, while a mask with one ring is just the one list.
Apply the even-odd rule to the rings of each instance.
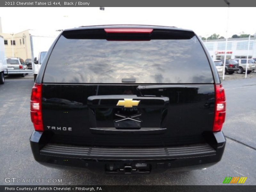
[[5, 56], [31, 59], [31, 45], [29, 30], [16, 34], [0, 33], [4, 37]]

